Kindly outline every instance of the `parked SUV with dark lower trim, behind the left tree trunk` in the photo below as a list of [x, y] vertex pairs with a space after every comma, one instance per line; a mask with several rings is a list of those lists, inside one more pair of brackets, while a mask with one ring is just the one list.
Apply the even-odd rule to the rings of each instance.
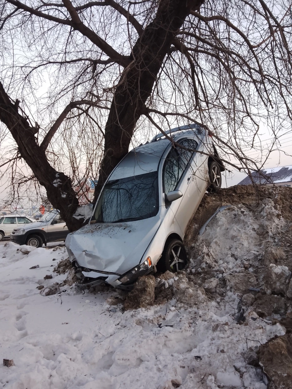
[[15, 228], [10, 239], [19, 245], [42, 247], [47, 242], [65, 240], [69, 233], [66, 223], [60, 218], [57, 210], [42, 216], [42, 219], [32, 224]]

